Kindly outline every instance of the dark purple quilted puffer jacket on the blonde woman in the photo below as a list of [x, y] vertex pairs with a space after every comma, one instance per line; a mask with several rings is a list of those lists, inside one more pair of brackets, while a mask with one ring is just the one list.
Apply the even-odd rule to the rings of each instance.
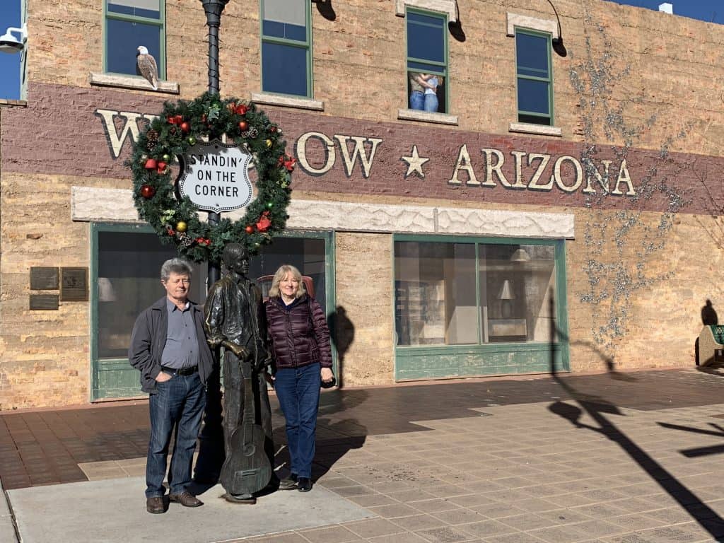
[[277, 369], [317, 362], [323, 368], [332, 367], [327, 318], [317, 300], [304, 295], [285, 306], [277, 296], [269, 298], [264, 308]]

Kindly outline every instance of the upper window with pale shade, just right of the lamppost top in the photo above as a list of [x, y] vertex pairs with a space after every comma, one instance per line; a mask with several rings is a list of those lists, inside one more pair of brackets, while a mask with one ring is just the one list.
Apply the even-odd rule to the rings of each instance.
[[311, 98], [307, 0], [261, 1], [261, 90]]

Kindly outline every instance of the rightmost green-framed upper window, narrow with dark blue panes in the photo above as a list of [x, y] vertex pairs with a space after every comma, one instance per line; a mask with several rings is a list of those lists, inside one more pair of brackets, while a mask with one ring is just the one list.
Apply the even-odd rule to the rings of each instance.
[[553, 125], [553, 91], [549, 33], [515, 28], [518, 122]]

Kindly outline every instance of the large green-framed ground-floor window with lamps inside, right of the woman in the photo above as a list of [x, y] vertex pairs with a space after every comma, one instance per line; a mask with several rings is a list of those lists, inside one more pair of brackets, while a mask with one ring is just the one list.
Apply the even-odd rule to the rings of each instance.
[[[421, 248], [417, 264], [419, 267], [415, 267], [415, 257], [405, 256], [404, 248], [398, 249], [397, 243], [400, 242], [413, 242], [410, 246], [412, 249], [415, 243], [444, 244], [455, 248], [454, 260], [445, 257], [445, 260], [439, 263], [445, 274], [442, 281], [436, 280], [435, 271], [424, 263]], [[509, 247], [500, 247], [503, 245]], [[524, 258], [521, 258], [518, 253], [516, 258], [514, 255], [517, 251], [510, 246], [526, 248], [529, 254], [522, 255]], [[552, 260], [544, 257], [544, 260], [555, 266], [548, 283], [542, 281], [544, 274], [548, 272], [542, 271], [541, 264], [544, 261], [539, 258], [543, 254], [550, 255], [551, 251], [543, 250], [541, 253], [536, 247], [552, 248]], [[495, 251], [499, 251], [497, 248], [510, 252], [509, 268], [501, 268], [500, 260], [487, 259]], [[536, 256], [536, 253], [539, 254]], [[437, 253], [430, 253], [424, 258], [435, 258], [436, 255]], [[410, 267], [411, 264], [413, 267]], [[392, 319], [396, 338], [395, 380], [546, 373], [552, 369], [568, 371], [570, 368], [565, 240], [397, 234], [392, 236], [392, 270]], [[417, 273], [419, 275], [416, 275]], [[423, 274], [428, 277], [423, 277]], [[474, 274], [474, 277], [470, 274]], [[485, 285], [481, 284], [482, 277], [485, 277]], [[523, 277], [526, 279], [521, 285]], [[508, 281], [504, 279], [510, 279], [510, 284], [505, 285]], [[546, 284], [546, 289], [552, 288], [552, 291], [540, 290], [542, 285]], [[428, 295], [425, 290], [432, 292], [432, 295]], [[536, 300], [538, 305], [531, 305], [531, 302], [526, 300], [523, 313], [504, 314], [505, 308], [502, 304], [506, 303], [506, 300], [515, 302], [516, 297], [521, 298], [523, 293], [528, 295], [529, 291], [536, 292], [535, 298], [531, 300]], [[547, 292], [549, 297], [543, 292]], [[553, 297], [550, 296], [551, 293], [554, 294]], [[492, 300], [501, 307], [493, 308]], [[555, 328], [546, 322], [550, 319], [550, 300], [555, 306], [552, 308]], [[445, 309], [442, 309], [440, 304], [445, 306]], [[539, 312], [529, 314], [530, 308], [537, 308]], [[492, 311], [501, 311], [501, 314], [493, 314]], [[442, 329], [438, 329], [440, 324], [437, 313], [442, 316]], [[432, 335], [439, 336], [438, 339], [408, 341], [404, 319], [408, 319], [408, 329], [418, 327], [418, 330], [421, 330], [419, 327], [429, 324]], [[510, 327], [521, 327], [522, 320], [527, 321], [527, 331], [508, 332]], [[453, 329], [455, 323], [458, 324], [457, 330]], [[460, 324], [466, 326], [461, 328]], [[494, 328], [497, 329], [493, 332]], [[551, 337], [554, 332], [555, 336]], [[514, 337], [520, 333], [528, 336]], [[442, 334], [445, 335], [444, 339]], [[497, 337], [493, 337], [494, 334]], [[427, 335], [422, 333], [419, 337]]]

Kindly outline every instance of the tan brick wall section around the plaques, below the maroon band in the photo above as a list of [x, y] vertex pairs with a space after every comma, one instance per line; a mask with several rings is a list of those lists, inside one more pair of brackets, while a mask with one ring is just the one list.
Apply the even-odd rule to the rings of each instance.
[[89, 265], [88, 224], [70, 221], [70, 187], [88, 180], [3, 174], [0, 182], [0, 409], [85, 403], [90, 306], [30, 311], [29, 276], [30, 266]]

